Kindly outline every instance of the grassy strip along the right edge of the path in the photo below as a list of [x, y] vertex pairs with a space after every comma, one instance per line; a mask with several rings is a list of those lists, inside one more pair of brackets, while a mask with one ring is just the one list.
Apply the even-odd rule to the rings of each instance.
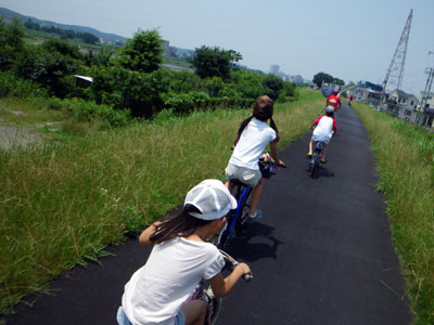
[[434, 324], [434, 134], [355, 103], [372, 141], [414, 324]]

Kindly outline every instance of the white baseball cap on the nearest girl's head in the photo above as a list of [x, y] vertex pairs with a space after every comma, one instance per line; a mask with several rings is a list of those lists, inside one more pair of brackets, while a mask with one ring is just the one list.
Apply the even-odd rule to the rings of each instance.
[[202, 220], [217, 220], [228, 214], [229, 210], [237, 209], [237, 199], [228, 187], [219, 180], [205, 180], [187, 193], [186, 205], [195, 206], [199, 212], [189, 214]]

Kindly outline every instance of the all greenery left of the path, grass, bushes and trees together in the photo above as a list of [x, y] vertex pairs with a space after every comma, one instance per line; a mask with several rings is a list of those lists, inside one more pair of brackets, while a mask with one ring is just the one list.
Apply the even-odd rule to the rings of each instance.
[[41, 136], [0, 148], [1, 314], [177, 207], [202, 179], [222, 179], [257, 96], [275, 100], [281, 144], [321, 112], [319, 93], [238, 68], [233, 50], [201, 47], [193, 70], [179, 72], [162, 67], [156, 30], [138, 30], [115, 55], [82, 53], [82, 40], [99, 47], [0, 18], [0, 125]]

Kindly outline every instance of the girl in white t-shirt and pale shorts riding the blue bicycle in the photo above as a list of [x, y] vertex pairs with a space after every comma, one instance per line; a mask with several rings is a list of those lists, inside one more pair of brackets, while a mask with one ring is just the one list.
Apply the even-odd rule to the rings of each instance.
[[[279, 131], [272, 120], [272, 100], [263, 95], [256, 99], [252, 116], [246, 118], [240, 126], [234, 140], [234, 148], [228, 166], [226, 167], [226, 185], [232, 191], [233, 184], [230, 180], [239, 180], [253, 187], [252, 203], [248, 210], [247, 223], [259, 219], [263, 212], [257, 209], [264, 182], [259, 170], [258, 160], [267, 144], [270, 144], [271, 157], [276, 164], [283, 166], [279, 159], [276, 143], [279, 141]], [[270, 120], [270, 126], [267, 120]]]

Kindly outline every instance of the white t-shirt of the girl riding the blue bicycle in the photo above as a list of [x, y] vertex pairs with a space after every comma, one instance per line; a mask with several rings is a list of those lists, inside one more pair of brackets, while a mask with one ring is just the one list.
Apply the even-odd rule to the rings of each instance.
[[267, 144], [276, 139], [276, 131], [266, 122], [253, 118], [241, 133], [229, 164], [258, 170], [258, 160]]

